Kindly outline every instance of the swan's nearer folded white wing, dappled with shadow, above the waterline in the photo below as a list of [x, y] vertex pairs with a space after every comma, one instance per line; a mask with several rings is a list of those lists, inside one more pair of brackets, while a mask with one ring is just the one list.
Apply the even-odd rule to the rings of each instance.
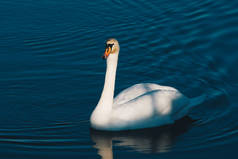
[[186, 115], [189, 100], [176, 89], [152, 90], [113, 108], [110, 129], [139, 129], [171, 124]]

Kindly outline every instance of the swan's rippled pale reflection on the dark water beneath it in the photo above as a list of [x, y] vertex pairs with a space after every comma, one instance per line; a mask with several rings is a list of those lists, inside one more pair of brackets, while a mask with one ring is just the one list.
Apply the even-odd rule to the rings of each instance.
[[91, 129], [91, 139], [102, 159], [113, 159], [113, 146], [128, 147], [142, 153], [163, 153], [170, 151], [176, 137], [185, 133], [193, 121], [184, 117], [169, 126], [123, 132]]

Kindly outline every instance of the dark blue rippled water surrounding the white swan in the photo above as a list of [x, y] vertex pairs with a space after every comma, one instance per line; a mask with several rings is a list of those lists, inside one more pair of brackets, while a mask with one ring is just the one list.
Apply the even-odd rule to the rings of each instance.
[[[0, 19], [1, 158], [237, 158], [237, 1], [2, 0]], [[154, 82], [209, 98], [171, 126], [90, 130], [110, 37], [116, 94]]]

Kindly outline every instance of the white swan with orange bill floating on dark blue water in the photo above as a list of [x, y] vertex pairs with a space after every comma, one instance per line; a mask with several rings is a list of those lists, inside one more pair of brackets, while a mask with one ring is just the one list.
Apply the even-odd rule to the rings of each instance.
[[113, 99], [119, 51], [116, 39], [107, 40], [105, 83], [90, 117], [92, 128], [120, 131], [172, 124], [204, 100], [205, 96], [189, 99], [175, 88], [153, 83], [136, 84]]

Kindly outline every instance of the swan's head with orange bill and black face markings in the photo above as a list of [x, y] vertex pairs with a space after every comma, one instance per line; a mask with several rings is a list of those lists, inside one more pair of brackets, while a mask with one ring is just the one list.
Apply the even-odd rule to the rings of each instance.
[[107, 59], [110, 54], [119, 54], [120, 46], [116, 39], [110, 38], [106, 41], [105, 53], [102, 56], [103, 59]]

